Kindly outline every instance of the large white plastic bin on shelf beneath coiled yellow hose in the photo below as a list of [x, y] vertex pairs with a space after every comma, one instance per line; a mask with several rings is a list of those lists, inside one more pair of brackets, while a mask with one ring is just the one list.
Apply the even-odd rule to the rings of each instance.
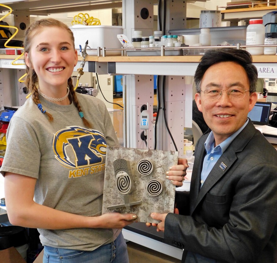
[[[122, 26], [111, 25], [73, 25], [70, 27], [75, 38], [75, 48], [80, 54], [79, 45], [84, 48], [88, 40], [90, 48], [121, 48], [117, 35], [123, 34]], [[87, 50], [88, 55], [97, 56], [97, 50]], [[120, 50], [107, 50], [106, 55], [120, 55]], [[101, 51], [102, 55], [102, 51]]]

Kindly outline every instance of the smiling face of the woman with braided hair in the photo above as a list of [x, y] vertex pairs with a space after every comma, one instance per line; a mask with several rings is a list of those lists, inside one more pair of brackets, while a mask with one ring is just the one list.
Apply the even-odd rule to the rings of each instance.
[[26, 65], [35, 70], [42, 91], [66, 87], [77, 61], [77, 51], [69, 32], [56, 26], [37, 29], [30, 51], [25, 53]]

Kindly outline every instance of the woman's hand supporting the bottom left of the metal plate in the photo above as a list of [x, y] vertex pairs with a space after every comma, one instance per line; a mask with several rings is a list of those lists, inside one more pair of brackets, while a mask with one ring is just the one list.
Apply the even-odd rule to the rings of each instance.
[[98, 216], [99, 219], [99, 228], [117, 228], [122, 229], [125, 226], [128, 226], [133, 223], [137, 218], [135, 214], [120, 214], [120, 213], [107, 213], [104, 215]]

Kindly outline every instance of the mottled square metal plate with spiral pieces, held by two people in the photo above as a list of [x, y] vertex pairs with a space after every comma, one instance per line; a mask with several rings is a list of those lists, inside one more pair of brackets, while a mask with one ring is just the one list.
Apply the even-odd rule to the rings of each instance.
[[135, 221], [158, 223], [151, 212], [173, 213], [175, 186], [166, 171], [178, 152], [107, 147], [102, 214], [134, 213]]

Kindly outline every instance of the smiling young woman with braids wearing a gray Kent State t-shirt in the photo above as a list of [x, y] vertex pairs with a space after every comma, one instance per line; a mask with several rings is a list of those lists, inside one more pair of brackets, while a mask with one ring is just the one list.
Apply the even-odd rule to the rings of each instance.
[[13, 225], [38, 228], [43, 262], [128, 262], [121, 229], [134, 214], [101, 215], [106, 146], [117, 139], [105, 104], [74, 92], [71, 30], [54, 19], [25, 32], [26, 87], [1, 167]]

